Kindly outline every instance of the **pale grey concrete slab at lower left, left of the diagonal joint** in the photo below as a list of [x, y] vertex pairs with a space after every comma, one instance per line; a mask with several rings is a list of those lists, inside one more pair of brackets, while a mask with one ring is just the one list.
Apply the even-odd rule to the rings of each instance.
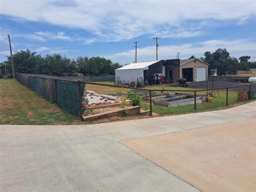
[[0, 191], [198, 191], [92, 127], [1, 125]]

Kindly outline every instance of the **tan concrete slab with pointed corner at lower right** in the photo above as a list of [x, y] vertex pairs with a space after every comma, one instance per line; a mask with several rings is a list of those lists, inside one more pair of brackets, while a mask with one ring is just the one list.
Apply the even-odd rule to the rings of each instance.
[[256, 119], [121, 142], [200, 191], [256, 191]]

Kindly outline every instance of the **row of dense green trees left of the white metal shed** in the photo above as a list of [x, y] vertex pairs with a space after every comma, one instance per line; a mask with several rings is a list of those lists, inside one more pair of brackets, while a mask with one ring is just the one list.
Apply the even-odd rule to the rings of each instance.
[[[30, 50], [20, 50], [12, 55], [16, 73], [40, 73], [45, 75], [115, 75], [115, 69], [121, 67], [118, 62], [105, 58], [79, 56], [76, 60], [61, 54], [41, 56]], [[11, 72], [11, 56], [7, 57], [7, 71]], [[3, 67], [3, 66], [2, 66]]]

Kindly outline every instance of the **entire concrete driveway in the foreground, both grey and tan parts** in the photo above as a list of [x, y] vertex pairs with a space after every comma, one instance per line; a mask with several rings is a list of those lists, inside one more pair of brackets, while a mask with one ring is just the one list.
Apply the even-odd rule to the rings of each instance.
[[256, 191], [256, 102], [98, 125], [1, 125], [0, 191]]

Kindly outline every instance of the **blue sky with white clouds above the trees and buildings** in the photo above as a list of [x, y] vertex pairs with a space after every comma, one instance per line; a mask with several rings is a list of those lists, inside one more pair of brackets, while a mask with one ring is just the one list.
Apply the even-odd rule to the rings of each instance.
[[100, 56], [128, 64], [226, 48], [256, 61], [256, 1], [1, 0], [0, 62], [12, 52]]

